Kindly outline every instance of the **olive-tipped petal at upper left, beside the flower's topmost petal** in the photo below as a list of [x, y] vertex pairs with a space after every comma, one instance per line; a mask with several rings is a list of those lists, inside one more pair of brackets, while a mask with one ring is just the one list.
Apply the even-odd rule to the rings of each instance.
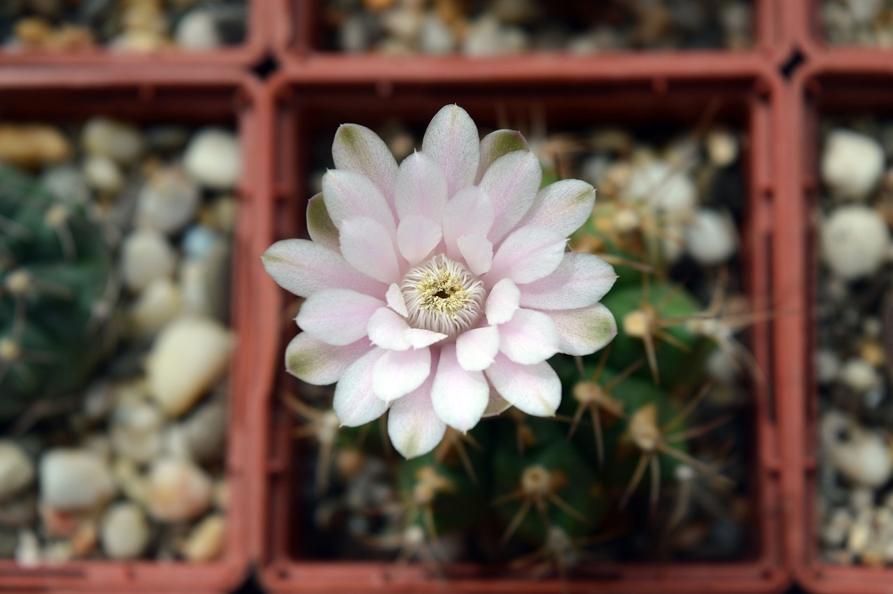
[[378, 134], [359, 124], [342, 124], [332, 142], [335, 167], [362, 173], [388, 199], [394, 195], [396, 159]]

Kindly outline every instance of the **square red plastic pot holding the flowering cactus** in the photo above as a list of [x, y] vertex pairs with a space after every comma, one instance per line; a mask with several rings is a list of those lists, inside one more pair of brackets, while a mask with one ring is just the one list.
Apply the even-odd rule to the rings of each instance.
[[[776, 152], [784, 116], [782, 86], [774, 69], [755, 65], [756, 58], [742, 56], [732, 66], [716, 59], [706, 68], [688, 61], [663, 63], [657, 68], [628, 56], [612, 60], [568, 60], [538, 57], [495, 69], [462, 59], [441, 59], [436, 71], [401, 68], [382, 61], [374, 72], [361, 62], [345, 62], [349, 69], [327, 71], [305, 63], [271, 81], [275, 163], [271, 230], [277, 237], [297, 237], [305, 225], [307, 144], [313, 131], [334, 133], [343, 121], [371, 122], [399, 113], [430, 117], [441, 105], [457, 102], [480, 124], [495, 123], [496, 106], [508, 113], [529, 114], [519, 105], [542, 105], [547, 121], [561, 125], [597, 122], [641, 126], [647, 121], [674, 121], [691, 125], [714, 97], [722, 97], [720, 119], [739, 124], [750, 137], [747, 179], [750, 192], [749, 224], [743, 234], [747, 260], [747, 285], [757, 307], [774, 306], [771, 289], [779, 279], [772, 261], [772, 242], [782, 229], [780, 185], [783, 161]], [[747, 65], [743, 65], [747, 64]], [[560, 67], [558, 67], [560, 65]], [[470, 68], [472, 66], [472, 68]], [[554, 66], [554, 67], [550, 67]], [[722, 67], [721, 67], [722, 66]], [[652, 74], [660, 71], [659, 76]], [[385, 75], [387, 73], [387, 75]], [[553, 119], [549, 119], [553, 118]], [[267, 280], [267, 288], [274, 287]], [[266, 295], [266, 293], [264, 293]], [[261, 311], [280, 312], [286, 296], [275, 293]], [[263, 331], [281, 330], [273, 316], [264, 316]], [[771, 390], [753, 395], [755, 433], [752, 436], [753, 540], [746, 560], [730, 563], [618, 563], [594, 577], [570, 581], [568, 591], [604, 592], [768, 592], [789, 585], [782, 543], [780, 467], [787, 454], [781, 450], [776, 403], [772, 392], [780, 389], [768, 362], [772, 359], [769, 324], [755, 327], [755, 356], [768, 372]], [[280, 406], [274, 376], [281, 373], [282, 347], [259, 345], [258, 360], [265, 388], [259, 425], [263, 447], [257, 463], [255, 493], [263, 507], [263, 543], [260, 574], [264, 585], [277, 592], [547, 592], [559, 591], [558, 581], [497, 581], [483, 577], [477, 565], [455, 568], [449, 581], [434, 581], [422, 568], [396, 570], [380, 563], [320, 562], [303, 559], [296, 550], [296, 509], [301, 505], [292, 489], [296, 472], [296, 448], [291, 438], [293, 419]], [[268, 373], [269, 372], [269, 373]]]

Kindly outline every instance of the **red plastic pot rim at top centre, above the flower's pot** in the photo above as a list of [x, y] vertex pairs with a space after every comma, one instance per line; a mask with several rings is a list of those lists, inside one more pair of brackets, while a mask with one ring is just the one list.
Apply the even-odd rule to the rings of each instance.
[[[272, 22], [273, 44], [280, 63], [296, 63], [305, 59], [313, 63], [322, 60], [329, 63], [329, 67], [345, 62], [364, 63], [365, 55], [338, 54], [326, 52], [320, 48], [320, 10], [324, 0], [271, 0], [271, 11], [277, 18]], [[717, 50], [679, 50], [671, 52], [616, 52], [588, 56], [595, 58], [597, 62], [611, 62], [617, 55], [644, 55], [659, 54], [665, 60], [681, 60], [697, 63], [699, 60], [713, 60], [716, 56], [722, 59], [743, 57], [746, 55], [761, 56], [772, 61], [786, 58], [791, 51], [792, 30], [791, 20], [793, 14], [789, 10], [787, 0], [751, 0], [755, 6], [754, 16], [754, 45], [745, 52], [730, 52]], [[375, 57], [375, 56], [371, 56]], [[575, 56], [574, 56], [575, 57]], [[473, 58], [467, 63], [484, 63], [496, 71], [504, 61], [513, 62], [536, 60], [536, 53], [520, 54], [517, 56], [499, 56], [493, 58]], [[438, 70], [438, 63], [445, 58], [437, 56], [401, 56], [391, 57], [388, 60], [403, 63], [418, 63], [419, 68]], [[450, 58], [447, 58], [450, 59]], [[330, 63], [331, 61], [331, 63]], [[377, 63], [372, 60], [371, 63]]]

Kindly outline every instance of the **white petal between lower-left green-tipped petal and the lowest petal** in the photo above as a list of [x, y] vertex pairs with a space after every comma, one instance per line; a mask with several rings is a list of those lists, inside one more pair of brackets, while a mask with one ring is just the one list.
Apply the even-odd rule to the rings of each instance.
[[332, 408], [342, 426], [359, 427], [388, 410], [388, 403], [372, 394], [372, 368], [383, 354], [373, 348], [350, 364], [335, 385]]

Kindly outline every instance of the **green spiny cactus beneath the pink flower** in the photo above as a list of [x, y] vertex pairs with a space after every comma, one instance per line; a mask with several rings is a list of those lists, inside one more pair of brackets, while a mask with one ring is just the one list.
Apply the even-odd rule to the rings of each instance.
[[[557, 177], [555, 167], [544, 165], [544, 180]], [[388, 456], [379, 436], [361, 443], [363, 430], [341, 431], [342, 444], [389, 460], [400, 495], [385, 536], [399, 543], [398, 558], [412, 549], [427, 551], [421, 556], [426, 565], [432, 558], [454, 559], [455, 550], [445, 551], [438, 540], [457, 535], [476, 559], [528, 560], [537, 575], [554, 570], [563, 576], [591, 556], [591, 545], [629, 534], [632, 526], [672, 531], [687, 513], [693, 477], [724, 484], [728, 492], [717, 459], [697, 459], [689, 441], [728, 420], [698, 414], [709, 389], [705, 363], [720, 348], [752, 371], [752, 356], [733, 335], [756, 317], [722, 312], [722, 290], [705, 295], [709, 282], [696, 297], [672, 280], [687, 278], [673, 270], [679, 213], [673, 219], [647, 200], [624, 202], [622, 193], [614, 188], [600, 197], [571, 240], [574, 251], [596, 253], [615, 266], [620, 278], [602, 303], [615, 316], [618, 334], [600, 353], [549, 361], [563, 385], [555, 418], [509, 409], [409, 461]], [[722, 269], [698, 273], [724, 289]], [[373, 423], [371, 433], [377, 431]], [[672, 496], [675, 511], [658, 506]], [[666, 554], [659, 539], [630, 542], [625, 546]]]

